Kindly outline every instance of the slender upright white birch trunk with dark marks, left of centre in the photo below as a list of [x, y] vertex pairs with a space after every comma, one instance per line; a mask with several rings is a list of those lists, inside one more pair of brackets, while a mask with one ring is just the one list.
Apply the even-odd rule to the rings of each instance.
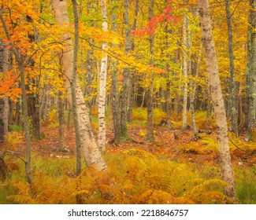
[[[106, 13], [106, 0], [101, 0], [102, 8], [102, 30], [108, 31], [107, 13]], [[98, 94], [98, 147], [101, 152], [106, 151], [106, 75], [108, 56], [104, 52], [107, 49], [107, 43], [102, 42], [102, 65], [99, 74], [99, 94]]]

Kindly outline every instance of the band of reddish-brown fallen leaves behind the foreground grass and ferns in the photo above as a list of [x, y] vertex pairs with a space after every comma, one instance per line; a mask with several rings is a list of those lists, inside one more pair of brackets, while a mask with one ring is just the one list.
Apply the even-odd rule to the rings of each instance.
[[[69, 157], [76, 153], [75, 130], [65, 130], [65, 150], [58, 151], [58, 128], [43, 127], [46, 138], [34, 141], [32, 151], [41, 156]], [[106, 154], [121, 152], [128, 148], [139, 148], [156, 156], [167, 157], [177, 163], [200, 163], [217, 165], [217, 134], [198, 134], [195, 138], [193, 130], [169, 130], [164, 126], [154, 126], [154, 142], [146, 141], [147, 128], [139, 125], [129, 126], [130, 141], [115, 143], [113, 132], [106, 132]], [[256, 141], [246, 142], [255, 149], [241, 148], [242, 141], [230, 138], [232, 163], [243, 167], [253, 167], [256, 163]], [[243, 136], [239, 138], [243, 140]], [[20, 143], [20, 147], [22, 144]], [[242, 145], [243, 146], [243, 145]]]

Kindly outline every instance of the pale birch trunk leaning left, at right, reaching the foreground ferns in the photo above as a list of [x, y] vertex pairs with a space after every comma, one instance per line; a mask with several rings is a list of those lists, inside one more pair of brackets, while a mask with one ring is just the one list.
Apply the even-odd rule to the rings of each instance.
[[217, 55], [211, 30], [210, 9], [207, 0], [198, 0], [199, 19], [202, 33], [202, 46], [205, 49], [206, 66], [210, 82], [210, 94], [217, 124], [217, 144], [221, 173], [228, 186], [224, 192], [236, 201], [235, 182], [232, 174], [232, 164], [228, 147], [228, 126], [224, 110], [224, 100], [217, 66]]

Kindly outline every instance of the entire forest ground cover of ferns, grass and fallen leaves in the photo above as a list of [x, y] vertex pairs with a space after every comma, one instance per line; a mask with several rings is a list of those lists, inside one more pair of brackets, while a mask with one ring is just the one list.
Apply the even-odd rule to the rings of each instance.
[[[113, 142], [108, 130], [107, 170], [83, 164], [78, 176], [73, 127], [65, 131], [66, 151], [58, 152], [58, 127], [48, 123], [43, 127], [45, 138], [32, 145], [32, 185], [21, 160], [24, 134], [9, 132], [1, 148], [19, 152], [21, 159], [11, 153], [4, 158], [8, 174], [1, 181], [0, 203], [234, 203], [224, 196], [223, 186], [228, 184], [221, 180], [216, 134], [199, 133], [195, 139], [192, 130], [180, 130], [178, 119], [173, 119], [173, 130], [159, 126], [164, 113], [158, 109], [156, 139], [144, 141], [145, 113], [143, 108], [133, 111], [134, 123], [128, 126], [132, 141]], [[203, 127], [206, 114], [198, 112], [196, 117], [202, 123], [198, 127]], [[229, 136], [238, 202], [256, 203], [255, 142]]]

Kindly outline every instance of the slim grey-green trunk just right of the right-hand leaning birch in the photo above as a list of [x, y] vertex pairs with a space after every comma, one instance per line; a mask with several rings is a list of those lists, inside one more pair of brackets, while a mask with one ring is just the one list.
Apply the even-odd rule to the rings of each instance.
[[228, 53], [230, 62], [230, 82], [229, 82], [229, 110], [231, 111], [231, 130], [238, 135], [237, 130], [237, 110], [236, 110], [236, 80], [235, 80], [235, 64], [233, 53], [233, 35], [232, 35], [232, 15], [230, 13], [229, 0], [225, 0], [227, 24], [228, 24]]

